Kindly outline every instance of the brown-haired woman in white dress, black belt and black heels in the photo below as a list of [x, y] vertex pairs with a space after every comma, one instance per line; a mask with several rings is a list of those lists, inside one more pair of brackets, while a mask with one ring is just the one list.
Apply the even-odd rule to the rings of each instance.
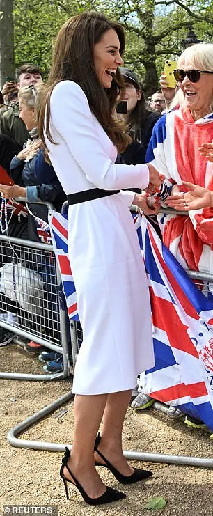
[[122, 451], [136, 375], [154, 358], [148, 283], [128, 208], [138, 197], [119, 190], [155, 191], [162, 178], [150, 165], [115, 164], [129, 143], [113, 117], [124, 47], [123, 28], [104, 15], [69, 19], [56, 38], [39, 111], [40, 135], [70, 205], [69, 255], [84, 336], [74, 371], [72, 455], [66, 448], [61, 477], [67, 497], [71, 482], [93, 505], [125, 498], [102, 483], [97, 462], [124, 484], [151, 475], [130, 467]]

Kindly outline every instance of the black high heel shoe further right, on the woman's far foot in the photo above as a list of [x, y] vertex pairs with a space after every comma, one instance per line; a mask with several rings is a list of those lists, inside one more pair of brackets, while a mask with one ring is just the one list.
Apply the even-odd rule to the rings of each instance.
[[100, 440], [101, 440], [101, 436], [100, 436], [100, 432], [99, 432], [95, 439], [95, 448], [94, 449], [95, 449], [96, 453], [98, 453], [98, 455], [100, 455], [100, 457], [104, 460], [104, 462], [106, 462], [106, 464], [102, 464], [102, 462], [95, 461], [95, 466], [104, 466], [104, 467], [109, 468], [111, 473], [117, 478], [118, 482], [120, 482], [121, 484], [133, 484], [134, 482], [140, 482], [140, 480], [145, 480], [145, 478], [148, 478], [149, 476], [153, 475], [152, 471], [148, 471], [146, 469], [139, 469], [139, 468], [134, 468], [134, 471], [133, 471], [132, 475], [130, 475], [130, 476], [122, 475], [121, 473], [119, 473], [118, 469], [116, 469], [111, 464], [111, 462], [109, 462], [109, 460], [107, 460], [104, 457], [104, 455], [102, 455], [102, 453], [97, 449], [97, 446], [100, 444]]

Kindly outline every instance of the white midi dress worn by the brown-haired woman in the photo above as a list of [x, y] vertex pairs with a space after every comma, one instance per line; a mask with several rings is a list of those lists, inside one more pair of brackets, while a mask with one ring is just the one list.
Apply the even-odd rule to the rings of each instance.
[[[115, 164], [117, 150], [72, 81], [54, 87], [49, 157], [65, 194], [148, 185], [146, 165]], [[69, 207], [68, 248], [83, 343], [72, 391], [83, 395], [133, 389], [154, 366], [150, 298], [125, 191]]]

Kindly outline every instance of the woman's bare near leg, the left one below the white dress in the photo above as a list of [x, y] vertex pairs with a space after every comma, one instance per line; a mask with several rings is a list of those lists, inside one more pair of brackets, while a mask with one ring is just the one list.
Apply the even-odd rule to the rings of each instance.
[[[94, 444], [107, 402], [107, 394], [76, 395], [74, 399], [74, 438], [68, 466], [91, 498], [100, 497], [106, 486], [95, 469]], [[70, 476], [64, 467], [63, 474]]]

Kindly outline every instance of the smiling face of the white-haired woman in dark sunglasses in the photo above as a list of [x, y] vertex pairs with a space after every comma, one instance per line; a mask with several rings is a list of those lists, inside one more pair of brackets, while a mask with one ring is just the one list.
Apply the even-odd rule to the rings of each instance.
[[[182, 61], [178, 65], [179, 68], [185, 71], [195, 68], [188, 60]], [[201, 67], [199, 69], [202, 71]], [[182, 83], [180, 83], [180, 89], [184, 94], [184, 107], [191, 110], [194, 120], [203, 118], [203, 116], [212, 111], [213, 75], [201, 73], [198, 82], [189, 81], [189, 77], [186, 75]]]

